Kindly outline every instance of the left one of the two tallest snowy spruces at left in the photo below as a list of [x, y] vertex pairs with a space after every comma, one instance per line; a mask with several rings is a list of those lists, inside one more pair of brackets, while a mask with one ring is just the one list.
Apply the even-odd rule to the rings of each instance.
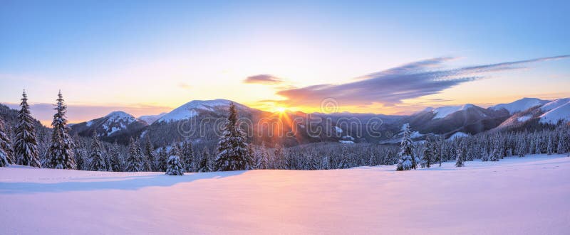
[[18, 113], [18, 126], [16, 126], [16, 144], [14, 152], [19, 165], [29, 165], [34, 168], [41, 168], [38, 154], [38, 141], [36, 140], [36, 129], [33, 126], [33, 118], [28, 105], [28, 94], [22, 93], [22, 102]]

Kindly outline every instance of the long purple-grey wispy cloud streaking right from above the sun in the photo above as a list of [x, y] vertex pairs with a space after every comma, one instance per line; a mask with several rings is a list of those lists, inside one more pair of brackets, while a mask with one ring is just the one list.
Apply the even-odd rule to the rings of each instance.
[[337, 99], [340, 104], [348, 106], [373, 103], [390, 106], [400, 104], [404, 99], [437, 94], [464, 82], [480, 80], [485, 73], [521, 69], [528, 63], [569, 57], [570, 55], [560, 55], [449, 70], [437, 68], [454, 58], [432, 58], [358, 77], [354, 82], [281, 89], [277, 94], [286, 98], [279, 102], [289, 106], [319, 105], [326, 98]]

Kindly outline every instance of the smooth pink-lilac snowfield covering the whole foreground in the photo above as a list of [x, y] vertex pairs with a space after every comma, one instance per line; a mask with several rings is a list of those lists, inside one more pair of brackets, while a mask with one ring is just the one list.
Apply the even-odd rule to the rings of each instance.
[[441, 168], [0, 168], [0, 234], [568, 234], [570, 158]]

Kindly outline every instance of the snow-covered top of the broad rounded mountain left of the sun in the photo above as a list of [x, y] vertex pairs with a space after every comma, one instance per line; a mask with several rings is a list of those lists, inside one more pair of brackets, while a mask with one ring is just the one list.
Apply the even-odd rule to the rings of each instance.
[[[170, 113], [165, 114], [157, 122], [170, 122], [170, 121], [180, 121], [183, 119], [190, 119], [198, 114], [198, 111], [214, 111], [216, 107], [229, 106], [231, 100], [227, 99], [213, 99], [213, 100], [193, 100], [176, 109], [170, 111]], [[242, 106], [242, 104], [236, 104], [236, 106]]]

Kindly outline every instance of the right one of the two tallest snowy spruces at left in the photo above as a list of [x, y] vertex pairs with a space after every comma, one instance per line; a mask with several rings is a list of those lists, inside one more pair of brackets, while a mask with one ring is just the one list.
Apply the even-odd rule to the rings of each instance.
[[56, 169], [75, 169], [76, 160], [74, 157], [75, 143], [69, 136], [69, 128], [67, 127], [66, 111], [67, 106], [63, 101], [61, 91], [56, 99], [56, 114], [53, 114], [51, 122], [51, 146], [48, 150], [48, 158], [50, 159], [50, 167]]

